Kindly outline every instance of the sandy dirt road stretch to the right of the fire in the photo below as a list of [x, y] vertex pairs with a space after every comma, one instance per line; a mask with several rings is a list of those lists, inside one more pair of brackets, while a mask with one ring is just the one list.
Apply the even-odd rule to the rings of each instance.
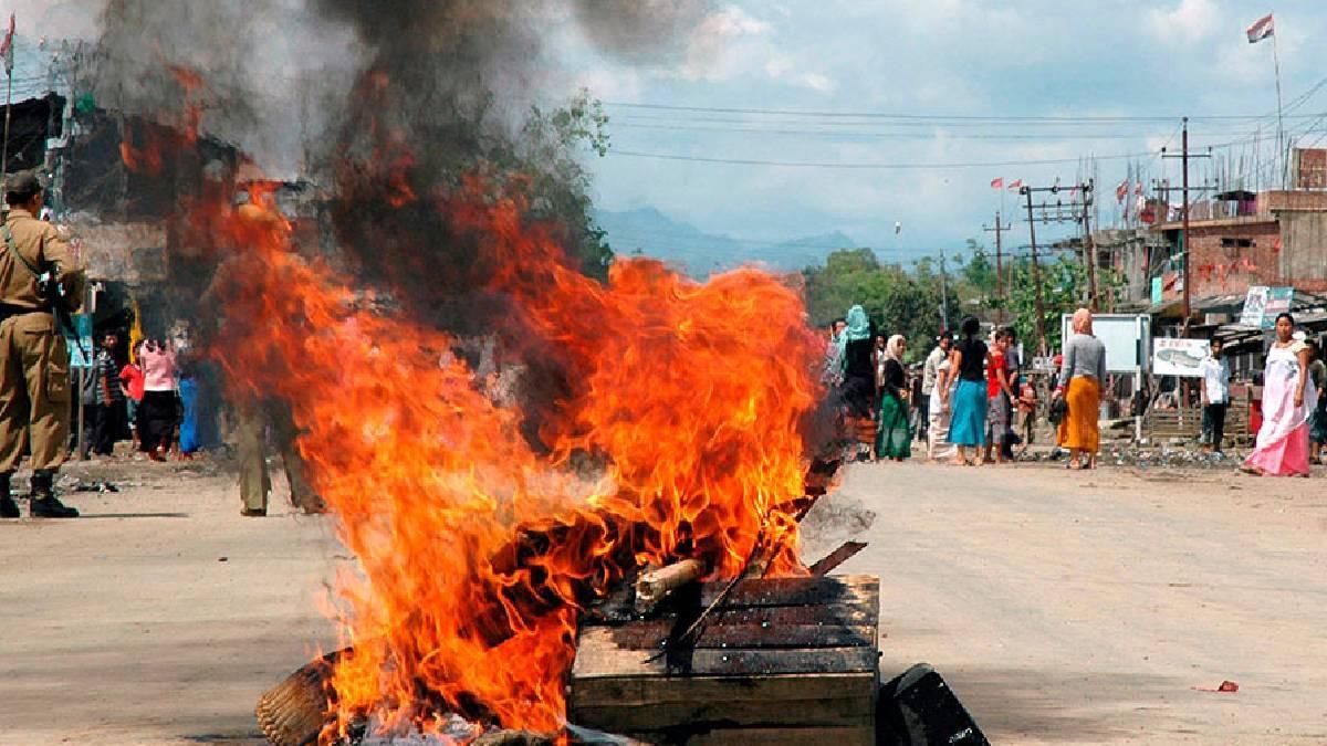
[[993, 742], [1327, 742], [1322, 479], [885, 465], [840, 495], [877, 514], [843, 569], [881, 576], [882, 673], [930, 662]]

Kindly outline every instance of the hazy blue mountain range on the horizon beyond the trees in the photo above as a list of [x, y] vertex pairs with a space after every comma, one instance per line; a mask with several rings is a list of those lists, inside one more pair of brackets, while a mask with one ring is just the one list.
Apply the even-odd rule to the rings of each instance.
[[640, 207], [625, 212], [596, 210], [594, 219], [608, 232], [608, 243], [618, 256], [653, 256], [681, 264], [687, 275], [698, 279], [751, 263], [776, 271], [798, 272], [809, 264], [824, 263], [831, 251], [857, 246], [840, 231], [786, 242], [706, 234], [695, 226], [669, 218], [654, 207]]

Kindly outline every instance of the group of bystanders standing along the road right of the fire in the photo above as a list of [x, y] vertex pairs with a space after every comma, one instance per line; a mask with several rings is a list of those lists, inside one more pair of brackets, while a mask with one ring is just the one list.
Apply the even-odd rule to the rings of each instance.
[[[828, 329], [824, 382], [835, 394], [843, 431], [857, 461], [904, 461], [913, 443], [930, 463], [982, 465], [1014, 459], [1032, 442], [1036, 386], [1023, 370], [1013, 328], [983, 333], [975, 317], [958, 335], [936, 338], [921, 370], [904, 362], [908, 338], [878, 333], [865, 309], [852, 307]], [[1046, 419], [1071, 470], [1095, 469], [1101, 447], [1100, 411], [1109, 381], [1105, 345], [1093, 335], [1092, 312], [1078, 309], [1071, 335], [1055, 357]], [[1223, 454], [1230, 406], [1230, 365], [1213, 338], [1202, 361], [1202, 447]], [[1262, 425], [1242, 470], [1308, 477], [1327, 442], [1327, 364], [1316, 342], [1296, 332], [1294, 317], [1277, 317], [1275, 341], [1263, 372]]]

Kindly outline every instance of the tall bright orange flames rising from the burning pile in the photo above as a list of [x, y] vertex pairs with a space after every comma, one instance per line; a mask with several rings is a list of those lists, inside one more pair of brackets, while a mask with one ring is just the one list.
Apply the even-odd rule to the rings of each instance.
[[[556, 731], [577, 613], [625, 572], [695, 556], [733, 576], [762, 536], [783, 540], [774, 572], [800, 569], [787, 504], [821, 348], [796, 289], [755, 269], [699, 284], [650, 260], [600, 284], [494, 194], [471, 179], [437, 208], [499, 261], [491, 289], [529, 346], [576, 372], [543, 422], [547, 454], [446, 354], [455, 338], [291, 251], [261, 192], [211, 222], [236, 252], [215, 288], [231, 394], [291, 402], [358, 559], [340, 579], [354, 645], [334, 674], [340, 730], [365, 714], [427, 730], [458, 711]], [[573, 469], [581, 454], [601, 466]]]

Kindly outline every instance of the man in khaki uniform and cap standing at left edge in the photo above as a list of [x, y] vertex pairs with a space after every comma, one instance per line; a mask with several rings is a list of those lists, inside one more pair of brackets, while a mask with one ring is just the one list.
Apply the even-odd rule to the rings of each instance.
[[[33, 518], [76, 518], [54, 495], [54, 477], [69, 441], [69, 348], [60, 333], [56, 304], [77, 308], [84, 268], [69, 243], [38, 220], [44, 190], [36, 173], [8, 179], [9, 215], [0, 232], [0, 518], [19, 518], [9, 478], [24, 445], [32, 453]], [[49, 273], [49, 275], [48, 275]], [[42, 275], [48, 275], [45, 280]], [[56, 283], [64, 289], [61, 295]], [[72, 304], [72, 305], [70, 305]]]

